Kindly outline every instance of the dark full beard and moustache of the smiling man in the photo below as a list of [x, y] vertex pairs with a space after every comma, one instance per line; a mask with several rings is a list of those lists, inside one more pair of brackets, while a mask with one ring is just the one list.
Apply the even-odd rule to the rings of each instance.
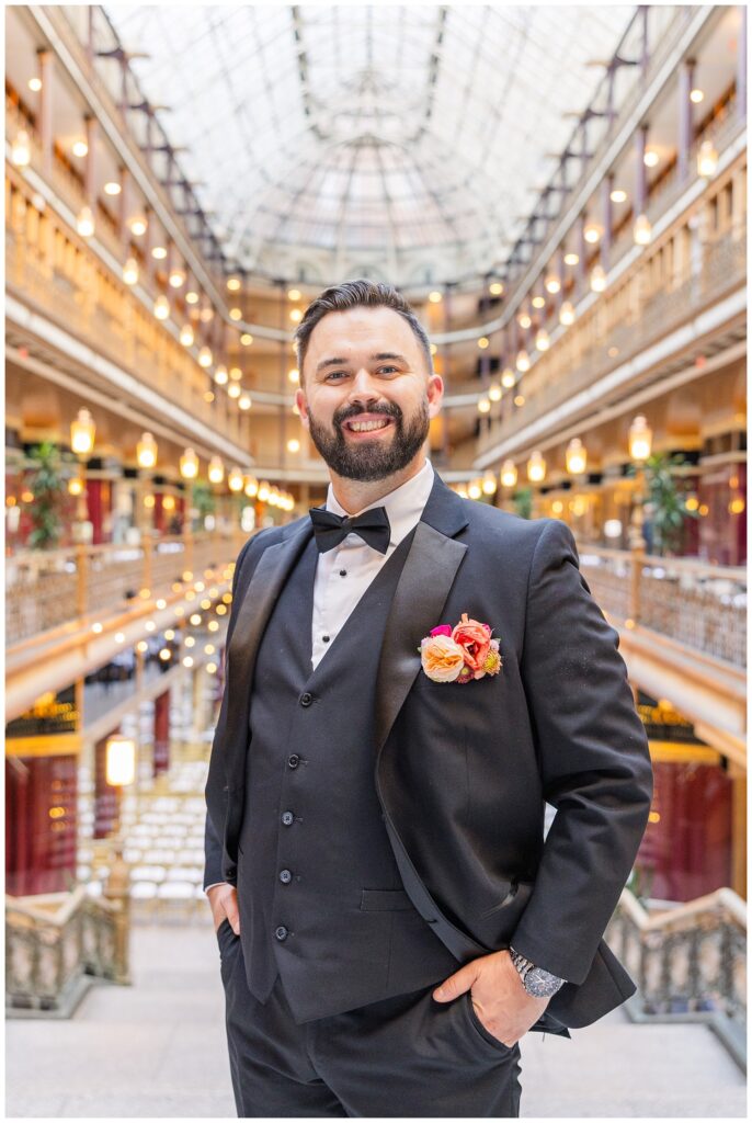
[[[394, 436], [391, 441], [379, 437], [373, 440], [348, 442], [342, 424], [361, 413], [380, 414], [394, 419]], [[309, 410], [311, 440], [319, 453], [338, 476], [347, 480], [384, 480], [406, 468], [423, 447], [429, 433], [428, 399], [423, 399], [407, 427], [402, 410], [393, 403], [374, 407], [370, 410], [343, 407], [332, 418], [333, 432], [320, 424]]]

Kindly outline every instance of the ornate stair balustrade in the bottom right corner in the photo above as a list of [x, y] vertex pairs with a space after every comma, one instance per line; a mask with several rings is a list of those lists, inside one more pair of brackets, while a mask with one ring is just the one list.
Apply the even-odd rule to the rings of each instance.
[[687, 904], [624, 889], [606, 941], [638, 985], [635, 1021], [705, 1021], [745, 1066], [746, 904], [730, 888]]

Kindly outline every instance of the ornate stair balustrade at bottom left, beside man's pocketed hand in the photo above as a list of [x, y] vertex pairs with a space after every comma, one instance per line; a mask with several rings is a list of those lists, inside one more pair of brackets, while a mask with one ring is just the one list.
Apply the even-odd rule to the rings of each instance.
[[104, 895], [6, 897], [9, 1016], [66, 1017], [94, 979], [128, 984], [127, 868], [116, 861]]

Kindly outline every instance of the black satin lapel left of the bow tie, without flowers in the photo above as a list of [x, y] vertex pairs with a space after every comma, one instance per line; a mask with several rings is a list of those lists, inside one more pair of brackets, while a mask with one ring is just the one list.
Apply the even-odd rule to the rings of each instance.
[[[264, 629], [285, 581], [312, 535], [313, 527], [306, 521], [290, 538], [264, 550], [238, 611], [228, 650], [226, 685], [229, 701], [228, 743], [241, 747], [238, 752], [245, 754], [250, 687]], [[302, 621], [301, 627], [310, 629], [310, 620]], [[228, 775], [231, 775], [237, 761], [228, 764]], [[244, 783], [242, 773], [237, 775], [237, 783]]]

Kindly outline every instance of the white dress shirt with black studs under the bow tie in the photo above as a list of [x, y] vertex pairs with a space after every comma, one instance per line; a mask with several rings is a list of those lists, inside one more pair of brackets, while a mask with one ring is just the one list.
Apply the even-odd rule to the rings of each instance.
[[[386, 508], [391, 536], [386, 554], [369, 546], [359, 535], [350, 533], [333, 550], [319, 555], [313, 584], [313, 619], [311, 622], [311, 664], [313, 669], [345, 627], [348, 617], [361, 599], [385, 562], [392, 557], [400, 542], [420, 521], [423, 508], [433, 487], [433, 468], [427, 460], [406, 483], [388, 495], [364, 506]], [[349, 514], [334, 497], [329, 484], [327, 510], [334, 514]], [[363, 511], [354, 512], [363, 514]]]

